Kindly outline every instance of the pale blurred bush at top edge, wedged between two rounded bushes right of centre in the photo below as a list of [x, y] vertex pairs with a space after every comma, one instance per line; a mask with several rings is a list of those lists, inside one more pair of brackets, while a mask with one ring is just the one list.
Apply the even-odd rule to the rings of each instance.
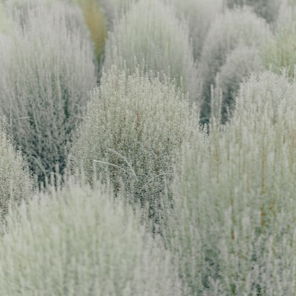
[[194, 58], [199, 60], [209, 27], [223, 11], [223, 0], [171, 0], [170, 2], [175, 6], [177, 17], [188, 21]]

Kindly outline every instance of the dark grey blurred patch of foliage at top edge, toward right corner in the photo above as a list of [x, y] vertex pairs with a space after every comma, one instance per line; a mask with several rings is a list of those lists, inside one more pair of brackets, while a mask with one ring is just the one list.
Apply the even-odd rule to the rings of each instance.
[[254, 12], [272, 23], [277, 21], [279, 9], [283, 0], [226, 0], [229, 8], [234, 6], [251, 6]]

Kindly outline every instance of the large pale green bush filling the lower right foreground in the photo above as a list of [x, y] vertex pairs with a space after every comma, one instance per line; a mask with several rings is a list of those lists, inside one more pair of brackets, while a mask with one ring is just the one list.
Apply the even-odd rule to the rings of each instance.
[[232, 122], [184, 148], [168, 241], [189, 295], [295, 295], [295, 98], [286, 76], [252, 76]]

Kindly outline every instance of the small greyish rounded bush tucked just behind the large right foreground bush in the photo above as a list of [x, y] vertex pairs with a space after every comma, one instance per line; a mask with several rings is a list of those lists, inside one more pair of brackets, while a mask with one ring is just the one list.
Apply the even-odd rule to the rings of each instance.
[[259, 50], [245, 45], [237, 46], [229, 53], [225, 64], [217, 74], [218, 85], [222, 95], [222, 122], [225, 123], [232, 114], [234, 98], [243, 79], [250, 73], [263, 69], [263, 62]]

